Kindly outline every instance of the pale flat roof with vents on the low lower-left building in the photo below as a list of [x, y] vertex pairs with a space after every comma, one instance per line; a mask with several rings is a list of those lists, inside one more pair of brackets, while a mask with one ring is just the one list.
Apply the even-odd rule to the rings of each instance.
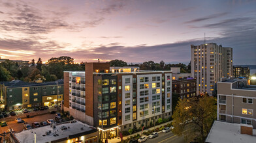
[[[65, 125], [67, 127], [66, 130], [61, 130], [61, 127]], [[81, 129], [83, 128], [83, 129]], [[59, 140], [62, 138], [69, 139], [76, 136], [82, 136], [89, 133], [96, 132], [97, 129], [90, 128], [89, 125], [86, 123], [82, 123], [76, 120], [73, 120], [73, 123], [61, 123], [59, 125], [56, 125], [56, 129], [53, 129], [50, 125], [46, 125], [44, 127], [38, 127], [35, 129], [29, 129], [22, 131], [20, 133], [14, 133], [14, 136], [21, 142], [33, 142], [35, 140], [35, 133], [36, 133], [36, 139], [37, 142], [51, 142], [54, 140]], [[46, 131], [51, 131], [50, 135], [46, 135]], [[93, 132], [92, 132], [93, 131]], [[58, 136], [54, 136], [54, 134], [57, 134]]]

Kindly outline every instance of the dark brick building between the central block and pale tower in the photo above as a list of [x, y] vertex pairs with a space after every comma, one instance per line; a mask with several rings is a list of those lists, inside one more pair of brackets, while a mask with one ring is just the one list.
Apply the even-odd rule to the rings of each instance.
[[172, 92], [179, 94], [180, 98], [196, 96], [197, 80], [191, 73], [180, 73], [180, 67], [172, 67]]

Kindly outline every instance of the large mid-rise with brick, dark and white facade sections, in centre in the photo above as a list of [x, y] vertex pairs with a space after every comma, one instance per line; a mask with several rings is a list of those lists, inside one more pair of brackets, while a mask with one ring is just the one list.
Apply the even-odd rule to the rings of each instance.
[[172, 72], [112, 73], [108, 63], [86, 63], [85, 72], [64, 72], [64, 96], [74, 118], [98, 127], [103, 138], [117, 136], [172, 116]]

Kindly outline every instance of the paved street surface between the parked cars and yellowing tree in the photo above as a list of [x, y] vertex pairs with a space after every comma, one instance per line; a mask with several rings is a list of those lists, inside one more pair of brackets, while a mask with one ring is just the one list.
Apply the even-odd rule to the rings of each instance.
[[156, 138], [150, 139], [146, 141], [146, 143], [165, 143], [165, 142], [172, 142], [172, 143], [183, 143], [185, 142], [183, 136], [174, 135], [171, 131], [168, 133], [159, 133], [159, 136]]

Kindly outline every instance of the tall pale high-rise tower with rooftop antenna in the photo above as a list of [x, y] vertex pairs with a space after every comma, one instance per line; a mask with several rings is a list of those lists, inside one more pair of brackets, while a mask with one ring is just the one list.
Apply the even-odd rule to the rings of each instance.
[[215, 43], [191, 45], [191, 77], [197, 79], [197, 94], [212, 96], [217, 81], [232, 77], [232, 48]]

